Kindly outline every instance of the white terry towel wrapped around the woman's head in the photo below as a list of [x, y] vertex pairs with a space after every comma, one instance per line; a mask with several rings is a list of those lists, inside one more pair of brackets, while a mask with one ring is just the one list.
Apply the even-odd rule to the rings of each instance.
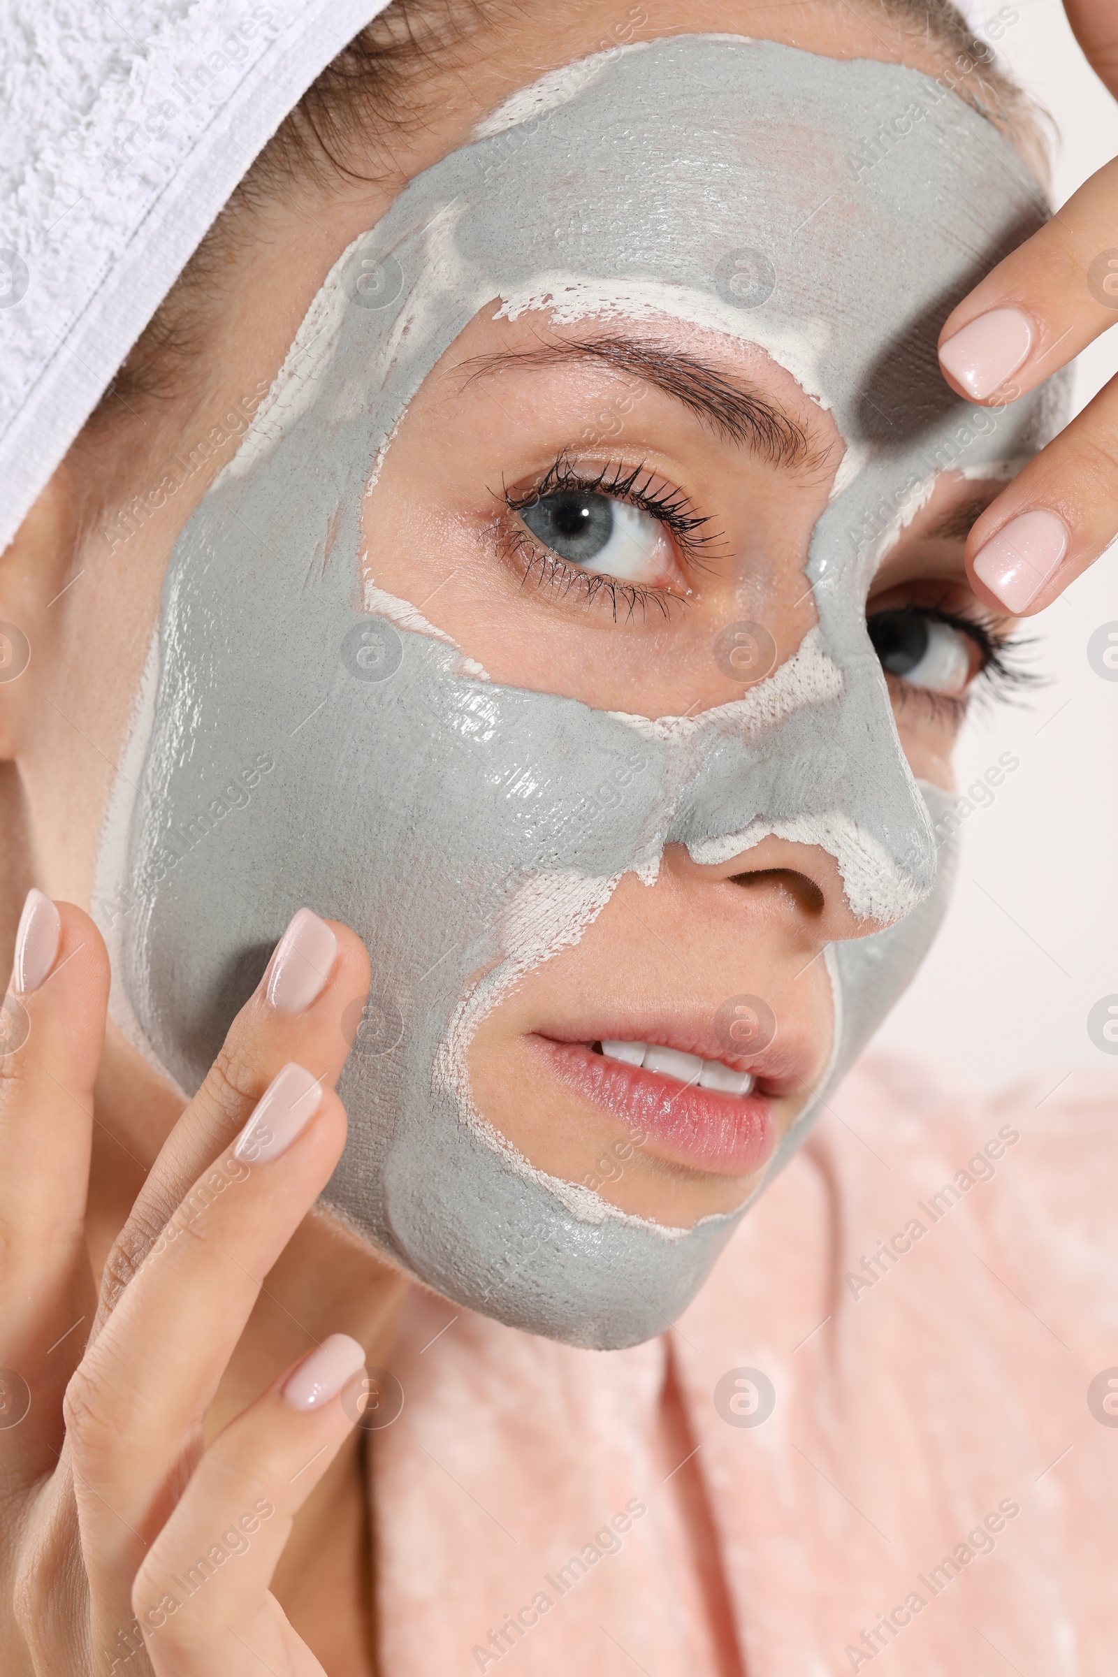
[[250, 163], [387, 0], [8, 0], [0, 552]]

